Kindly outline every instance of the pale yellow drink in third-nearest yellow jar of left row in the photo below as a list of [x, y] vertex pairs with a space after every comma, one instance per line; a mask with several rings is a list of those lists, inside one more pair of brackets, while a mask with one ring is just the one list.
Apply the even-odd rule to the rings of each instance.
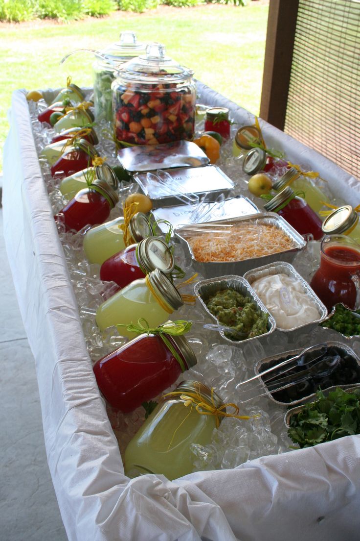
[[102, 265], [112, 255], [125, 248], [124, 232], [120, 225], [124, 218], [118, 218], [92, 227], [84, 236], [84, 252], [90, 263]]

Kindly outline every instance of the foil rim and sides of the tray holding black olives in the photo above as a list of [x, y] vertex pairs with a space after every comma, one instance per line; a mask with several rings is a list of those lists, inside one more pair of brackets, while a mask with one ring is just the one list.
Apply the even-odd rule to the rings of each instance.
[[[360, 367], [360, 359], [357, 356], [357, 354], [354, 352], [354, 350], [351, 349], [351, 347], [347, 346], [346, 344], [343, 344], [342, 342], [329, 341], [329, 342], [322, 342], [321, 344], [319, 344], [318, 345], [319, 349], [321, 349], [321, 347], [324, 344], [327, 345], [328, 347], [335, 347], [336, 349], [339, 350], [339, 353], [341, 353], [342, 355], [350, 355], [350, 357], [352, 357], [355, 360], [356, 364]], [[314, 344], [314, 346], [315, 346], [315, 344]], [[286, 357], [295, 357], [295, 355], [298, 355], [299, 353], [301, 353], [303, 351], [303, 349], [305, 349], [305, 347], [301, 347], [301, 348], [298, 348], [298, 349], [291, 349], [290, 351], [280, 353], [279, 355], [274, 355], [274, 356], [270, 356], [270, 357], [266, 357], [265, 359], [262, 359], [261, 361], [257, 362], [257, 364], [255, 365], [255, 374], [259, 375], [264, 370], [267, 370], [267, 368], [270, 368], [271, 366], [274, 366], [275, 364], [278, 364], [280, 359], [284, 359]], [[276, 400], [273, 397], [273, 395], [268, 391], [268, 388], [267, 388], [266, 384], [263, 382], [261, 377], [259, 378], [259, 381], [260, 381], [260, 384], [263, 387], [264, 391], [266, 392], [268, 398], [272, 402], [274, 402], [275, 404], [277, 404], [279, 406], [283, 406], [283, 407], [296, 406], [298, 404], [304, 404], [305, 402], [309, 402], [311, 400], [314, 401], [314, 399], [316, 397], [316, 394], [314, 392], [314, 393], [311, 393], [311, 394], [309, 394], [309, 395], [307, 395], [305, 397], [302, 397], [302, 398], [300, 398], [298, 400], [293, 400], [291, 402], [281, 402], [279, 400]], [[359, 381], [359, 385], [360, 385], [360, 381]], [[348, 385], [336, 385], [336, 387], [340, 387], [340, 386], [342, 388], [355, 387], [355, 386], [357, 386], [357, 384], [352, 382], [352, 383], [350, 383]], [[334, 386], [331, 385], [330, 387], [334, 387]], [[322, 391], [327, 391], [330, 387], [324, 388], [324, 389], [322, 389]]]

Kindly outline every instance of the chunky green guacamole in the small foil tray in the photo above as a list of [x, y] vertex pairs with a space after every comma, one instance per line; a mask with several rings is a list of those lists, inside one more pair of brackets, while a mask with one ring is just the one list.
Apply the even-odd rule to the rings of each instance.
[[235, 289], [218, 291], [205, 304], [221, 325], [234, 329], [234, 333], [225, 333], [230, 340], [245, 340], [268, 332], [268, 314]]

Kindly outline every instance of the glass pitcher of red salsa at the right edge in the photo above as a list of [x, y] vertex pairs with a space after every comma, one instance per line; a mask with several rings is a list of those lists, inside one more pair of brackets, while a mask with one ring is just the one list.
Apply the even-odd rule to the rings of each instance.
[[310, 286], [330, 311], [337, 302], [350, 309], [360, 301], [360, 245], [345, 235], [327, 235]]

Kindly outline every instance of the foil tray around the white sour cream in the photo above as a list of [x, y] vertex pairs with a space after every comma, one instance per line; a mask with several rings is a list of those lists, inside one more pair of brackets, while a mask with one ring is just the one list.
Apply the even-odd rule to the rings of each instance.
[[[291, 263], [287, 263], [286, 261], [275, 261], [274, 263], [269, 263], [268, 265], [264, 265], [263, 267], [252, 269], [252, 271], [246, 272], [244, 274], [244, 278], [249, 282], [250, 286], [252, 286], [255, 280], [258, 280], [259, 278], [263, 278], [264, 276], [271, 276], [275, 274], [286, 274], [287, 276], [290, 276], [290, 278], [293, 278], [296, 282], [300, 282], [303, 292], [306, 295], [308, 295], [309, 301], [317, 308], [317, 311], [318, 311], [318, 319], [307, 321], [306, 323], [303, 323], [301, 325], [284, 329], [276, 320], [275, 314], [271, 313], [271, 311], [267, 307], [270, 314], [273, 315], [276, 321], [276, 328], [278, 331], [282, 331], [282, 332], [295, 331], [295, 329], [300, 329], [301, 327], [304, 327], [305, 325], [318, 323], [325, 319], [325, 317], [328, 314], [327, 307], [321, 302], [318, 296], [314, 293], [313, 289], [311, 289], [308, 282], [304, 280], [303, 277], [298, 272], [295, 271], [295, 268], [293, 267], [293, 265], [291, 265]], [[284, 304], [286, 304], [287, 302], [290, 302], [291, 295], [286, 287], [284, 287], [284, 291], [280, 291], [280, 294], [283, 297]], [[266, 306], [266, 302], [264, 302], [264, 305]]]

